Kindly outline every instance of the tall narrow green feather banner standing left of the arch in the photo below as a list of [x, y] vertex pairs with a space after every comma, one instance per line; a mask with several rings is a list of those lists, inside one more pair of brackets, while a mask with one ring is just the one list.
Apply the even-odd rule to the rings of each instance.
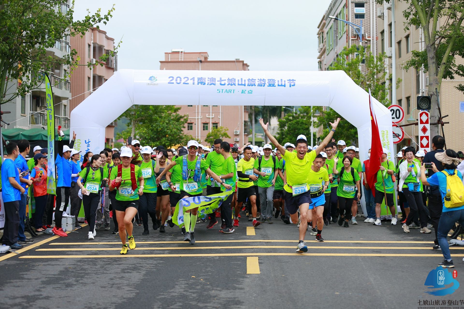
[[56, 195], [57, 181], [55, 168], [55, 109], [50, 78], [45, 73], [45, 101], [47, 103], [47, 135], [48, 135], [48, 170], [47, 193]]

